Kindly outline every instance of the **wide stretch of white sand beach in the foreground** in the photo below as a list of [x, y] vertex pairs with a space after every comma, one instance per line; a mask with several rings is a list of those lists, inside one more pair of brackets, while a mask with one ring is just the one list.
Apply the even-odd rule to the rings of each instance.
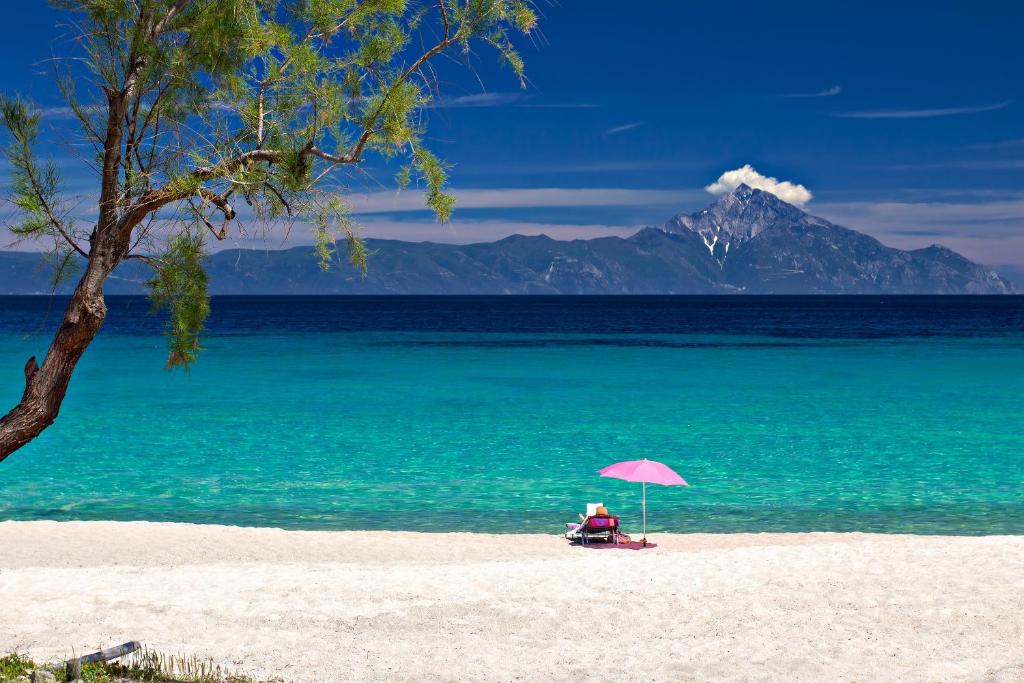
[[0, 523], [0, 650], [286, 681], [1021, 681], [1024, 537]]

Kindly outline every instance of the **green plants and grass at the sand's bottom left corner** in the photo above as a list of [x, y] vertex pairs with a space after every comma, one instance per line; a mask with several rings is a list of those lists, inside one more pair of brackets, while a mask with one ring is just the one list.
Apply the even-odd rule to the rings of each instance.
[[[79, 680], [82, 683], [282, 683], [281, 679], [257, 680], [227, 673], [208, 659], [152, 650], [141, 650], [121, 661], [84, 664]], [[40, 665], [17, 652], [0, 657], [0, 683], [39, 681], [72, 683], [63, 663]]]

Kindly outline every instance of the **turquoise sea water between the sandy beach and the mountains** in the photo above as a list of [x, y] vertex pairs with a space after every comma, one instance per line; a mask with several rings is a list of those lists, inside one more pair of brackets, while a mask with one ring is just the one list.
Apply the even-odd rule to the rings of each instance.
[[[4, 408], [45, 348], [32, 305], [0, 328]], [[1015, 305], [957, 336], [864, 335], [856, 311], [771, 335], [424, 330], [408, 311], [321, 331], [247, 308], [184, 375], [136, 304], [57, 423], [0, 463], [0, 519], [556, 531], [603, 501], [631, 530], [639, 485], [596, 470], [646, 457], [691, 484], [648, 487], [652, 529], [1021, 533]]]

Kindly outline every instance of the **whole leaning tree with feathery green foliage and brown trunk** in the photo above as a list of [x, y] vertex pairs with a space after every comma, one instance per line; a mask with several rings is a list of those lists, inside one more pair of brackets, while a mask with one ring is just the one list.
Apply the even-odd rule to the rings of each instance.
[[466, 61], [488, 45], [522, 84], [512, 37], [537, 24], [530, 0], [55, 4], [74, 17], [81, 51], [57, 61], [56, 82], [94, 154], [98, 200], [94, 224], [83, 227], [58, 169], [34, 152], [40, 112], [0, 100], [18, 218], [10, 229], [52, 245], [58, 275], [85, 264], [42, 365], [29, 359], [22, 399], [0, 420], [0, 461], [56, 419], [120, 263], [152, 266], [152, 299], [169, 311], [168, 366], [187, 368], [210, 307], [207, 241], [238, 224], [239, 200], [266, 229], [313, 225], [323, 267], [339, 237], [352, 264], [367, 267], [342, 182], [369, 155], [399, 158], [397, 184], [421, 183], [446, 220], [446, 166], [423, 144], [424, 110], [436, 96], [431, 65]]

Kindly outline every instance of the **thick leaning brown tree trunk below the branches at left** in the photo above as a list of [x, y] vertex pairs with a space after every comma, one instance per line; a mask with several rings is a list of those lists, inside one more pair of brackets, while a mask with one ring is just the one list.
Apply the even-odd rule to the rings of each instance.
[[118, 251], [94, 245], [42, 367], [29, 358], [22, 400], [0, 419], [0, 462], [56, 420], [72, 373], [106, 317], [103, 283], [119, 260]]

